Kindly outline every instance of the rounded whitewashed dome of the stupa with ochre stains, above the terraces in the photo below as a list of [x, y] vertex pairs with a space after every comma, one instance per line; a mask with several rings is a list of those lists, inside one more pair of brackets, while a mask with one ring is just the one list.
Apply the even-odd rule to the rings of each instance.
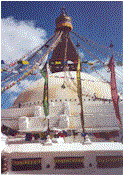
[[[70, 74], [69, 74], [70, 73]], [[108, 83], [100, 81], [87, 73], [81, 73], [82, 93], [88, 98], [111, 99], [111, 88]], [[62, 85], [65, 85], [65, 89]], [[58, 72], [49, 75], [49, 102], [58, 101], [78, 101], [76, 72], [70, 71], [66, 75], [64, 72]], [[35, 81], [26, 88], [16, 99], [13, 107], [19, 104], [24, 107], [28, 105], [41, 105], [43, 101], [44, 78]], [[84, 99], [85, 101], [85, 99]]]

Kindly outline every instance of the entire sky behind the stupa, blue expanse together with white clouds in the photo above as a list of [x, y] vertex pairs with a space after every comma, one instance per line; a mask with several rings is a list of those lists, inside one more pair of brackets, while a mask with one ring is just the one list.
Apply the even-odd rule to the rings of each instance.
[[[122, 60], [122, 1], [3, 1], [2, 59], [11, 63], [49, 39], [54, 34], [55, 19], [62, 6], [72, 18], [74, 32], [99, 45], [109, 46], [112, 41], [115, 59]], [[122, 76], [122, 70], [119, 72]], [[12, 106], [17, 96], [39, 77], [29, 76], [2, 94], [2, 108]], [[122, 91], [122, 85], [119, 90]]]

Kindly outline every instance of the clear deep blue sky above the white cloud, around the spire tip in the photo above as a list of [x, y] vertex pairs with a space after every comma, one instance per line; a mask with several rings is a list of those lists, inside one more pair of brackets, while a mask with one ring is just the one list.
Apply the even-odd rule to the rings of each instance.
[[35, 21], [35, 26], [45, 29], [47, 38], [55, 30], [55, 19], [62, 6], [72, 17], [75, 32], [122, 51], [122, 1], [4, 1], [1, 18]]

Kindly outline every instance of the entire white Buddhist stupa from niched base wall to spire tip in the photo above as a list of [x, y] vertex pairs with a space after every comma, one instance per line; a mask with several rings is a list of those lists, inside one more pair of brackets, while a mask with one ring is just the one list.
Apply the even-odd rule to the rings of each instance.
[[[115, 138], [117, 142], [111, 142], [110, 137], [108, 142], [106, 139], [105, 142], [91, 142], [89, 136], [85, 135], [85, 132], [108, 133], [119, 131], [120, 128], [109, 83], [81, 72], [77, 50], [69, 36], [72, 29], [71, 18], [63, 8], [56, 19], [56, 39], [47, 50], [50, 52], [53, 49], [49, 60], [51, 73], [31, 84], [11, 108], [1, 112], [3, 132], [11, 131], [12, 134], [7, 127], [20, 132], [17, 137], [8, 138], [2, 151], [3, 173], [123, 174], [120, 136]], [[46, 80], [48, 85], [45, 85]], [[46, 97], [44, 91], [49, 93]], [[45, 99], [49, 105], [49, 116], [45, 116]], [[123, 102], [119, 101], [121, 117], [122, 105]], [[63, 141], [62, 137], [55, 137], [53, 141], [50, 134], [45, 142], [42, 141], [43, 137], [32, 139], [33, 134], [37, 138], [36, 134], [40, 132], [48, 131], [49, 134], [50, 130], [58, 129], [74, 132], [74, 138], [67, 135]], [[79, 133], [84, 138], [75, 138], [75, 134]], [[24, 134], [30, 134], [30, 137], [24, 138]]]

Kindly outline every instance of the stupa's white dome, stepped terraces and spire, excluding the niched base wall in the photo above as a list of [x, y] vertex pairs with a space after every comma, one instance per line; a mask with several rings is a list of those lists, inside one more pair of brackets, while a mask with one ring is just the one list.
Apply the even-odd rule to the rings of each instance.
[[[71, 18], [62, 8], [61, 15], [56, 19], [55, 34], [60, 32], [63, 34], [49, 60], [51, 74], [48, 76], [48, 101], [51, 128], [60, 122], [58, 128], [81, 129], [76, 78], [78, 53], [69, 36], [72, 29]], [[109, 83], [81, 72], [81, 85], [85, 128], [112, 130], [115, 127], [118, 129]], [[47, 121], [42, 121], [45, 119], [43, 92], [44, 78], [26, 88], [11, 108], [2, 110], [2, 124], [14, 129], [21, 128], [22, 131], [24, 127], [24, 131], [27, 129], [26, 127], [31, 131], [45, 130]], [[121, 116], [123, 114], [122, 104], [120, 102]], [[61, 123], [61, 115], [68, 122], [67, 125], [64, 123], [63, 126]]]

